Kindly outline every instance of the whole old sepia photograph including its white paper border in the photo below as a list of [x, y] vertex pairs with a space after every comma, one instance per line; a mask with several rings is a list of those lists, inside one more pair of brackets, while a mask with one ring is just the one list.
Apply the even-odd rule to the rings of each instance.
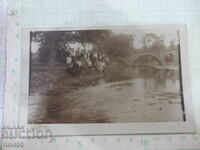
[[56, 136], [195, 132], [186, 29], [24, 29], [19, 121]]

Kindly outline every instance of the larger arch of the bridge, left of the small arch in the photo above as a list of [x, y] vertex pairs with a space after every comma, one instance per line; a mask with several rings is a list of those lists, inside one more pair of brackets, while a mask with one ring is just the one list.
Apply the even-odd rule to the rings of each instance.
[[154, 55], [151, 55], [151, 54], [143, 54], [143, 55], [139, 55], [137, 56], [134, 60], [133, 60], [133, 65], [135, 66], [140, 66], [140, 63], [139, 61], [143, 61], [141, 63], [141, 65], [144, 65], [145, 64], [145, 61], [146, 61], [146, 64], [150, 63], [150, 60], [151, 61], [155, 61], [157, 62], [159, 65], [162, 65], [162, 62], [161, 60], [157, 57], [157, 56], [154, 56]]

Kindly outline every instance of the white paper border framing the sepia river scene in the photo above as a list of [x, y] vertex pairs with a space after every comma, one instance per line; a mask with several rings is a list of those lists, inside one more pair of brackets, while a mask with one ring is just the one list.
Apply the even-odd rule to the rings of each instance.
[[[145, 122], [145, 123], [84, 123], [84, 124], [28, 124], [29, 103], [29, 69], [30, 69], [30, 32], [31, 31], [70, 31], [97, 30], [118, 27], [145, 28], [176, 27], [180, 33], [180, 62], [182, 90], [186, 121], [182, 122]], [[21, 60], [21, 93], [19, 105], [19, 124], [27, 128], [42, 128], [52, 131], [53, 136], [64, 135], [113, 135], [113, 134], [161, 134], [161, 133], [195, 133], [196, 127], [193, 116], [190, 76], [187, 55], [186, 25], [133, 25], [107, 27], [72, 27], [72, 28], [24, 28], [22, 30], [22, 60]], [[183, 61], [184, 60], [184, 61]]]

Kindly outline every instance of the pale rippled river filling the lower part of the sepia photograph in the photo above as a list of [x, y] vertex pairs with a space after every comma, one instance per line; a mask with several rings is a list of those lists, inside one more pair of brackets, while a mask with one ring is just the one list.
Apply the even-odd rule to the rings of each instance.
[[136, 72], [126, 81], [100, 79], [62, 94], [35, 93], [30, 96], [29, 123], [183, 121], [178, 71]]

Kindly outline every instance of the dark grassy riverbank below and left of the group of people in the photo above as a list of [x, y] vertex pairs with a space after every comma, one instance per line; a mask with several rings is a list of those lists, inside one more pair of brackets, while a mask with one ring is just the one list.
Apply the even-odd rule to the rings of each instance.
[[73, 77], [65, 70], [65, 66], [32, 66], [30, 94], [48, 92], [62, 93], [64, 89], [72, 89], [98, 84], [104, 74], [95, 69], [85, 69], [78, 77]]

